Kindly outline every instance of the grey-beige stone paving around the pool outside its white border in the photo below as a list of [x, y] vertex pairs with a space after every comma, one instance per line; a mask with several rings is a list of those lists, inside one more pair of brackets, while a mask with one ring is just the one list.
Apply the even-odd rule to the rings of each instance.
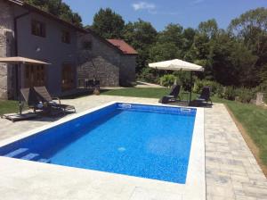
[[[158, 103], [158, 99], [123, 96], [86, 96], [62, 100], [62, 103], [73, 104], [77, 112], [82, 112], [110, 101]], [[43, 118], [12, 123], [0, 119], [0, 140], [56, 120]], [[267, 179], [223, 104], [205, 109], [205, 142], [206, 199], [267, 199]], [[154, 197], [142, 196], [142, 199], [160, 199]]]

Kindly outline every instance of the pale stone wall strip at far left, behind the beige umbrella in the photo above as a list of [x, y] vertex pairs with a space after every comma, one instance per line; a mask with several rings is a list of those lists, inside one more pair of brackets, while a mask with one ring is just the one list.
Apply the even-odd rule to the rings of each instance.
[[[0, 57], [12, 55], [13, 46], [13, 10], [12, 5], [0, 0]], [[12, 69], [0, 63], [0, 99], [12, 97]]]

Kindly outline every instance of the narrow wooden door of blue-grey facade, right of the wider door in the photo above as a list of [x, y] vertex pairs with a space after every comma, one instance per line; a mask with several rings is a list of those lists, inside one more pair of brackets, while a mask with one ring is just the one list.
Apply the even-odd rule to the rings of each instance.
[[62, 91], [68, 91], [74, 87], [74, 72], [70, 64], [62, 65], [61, 73], [61, 88]]

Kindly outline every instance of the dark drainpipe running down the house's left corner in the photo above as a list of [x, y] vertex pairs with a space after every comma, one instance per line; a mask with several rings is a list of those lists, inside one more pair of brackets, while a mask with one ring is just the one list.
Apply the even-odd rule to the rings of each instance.
[[[17, 28], [17, 25], [18, 25], [18, 20], [24, 16], [27, 16], [29, 14], [29, 11], [28, 12], [24, 12], [16, 17], [14, 17], [14, 45], [15, 45], [15, 56], [19, 56], [19, 50], [18, 50], [18, 28]], [[19, 80], [19, 70], [18, 70], [18, 66], [16, 65], [15, 67], [15, 77], [16, 77], [16, 97], [18, 97], [20, 99], [20, 91], [19, 91], [19, 83], [18, 83], [18, 80]]]

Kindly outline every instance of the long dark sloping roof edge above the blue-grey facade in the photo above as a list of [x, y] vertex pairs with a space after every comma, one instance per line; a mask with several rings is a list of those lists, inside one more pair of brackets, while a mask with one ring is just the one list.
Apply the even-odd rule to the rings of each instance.
[[118, 53], [120, 54], [125, 54], [120, 48], [118, 48], [117, 46], [114, 46], [112, 44], [110, 44], [109, 41], [107, 41], [105, 38], [99, 36], [97, 33], [95, 33], [92, 29], [84, 29], [82, 27], [78, 27], [72, 23], [70, 23], [69, 21], [64, 21], [64, 20], [61, 20], [59, 17], [57, 16], [54, 16], [53, 14], [49, 13], [49, 12], [45, 12], [39, 8], [37, 8], [36, 6], [34, 5], [31, 5], [31, 4], [27, 4], [25, 3], [24, 1], [21, 1], [21, 0], [6, 0], [7, 2], [9, 3], [12, 3], [12, 4], [16, 4], [16, 5], [19, 5], [25, 9], [27, 9], [28, 11], [31, 11], [31, 12], [37, 12], [41, 15], [43, 15], [44, 17], [47, 17], [47, 18], [50, 18], [51, 20], [54, 20], [54, 21], [59, 21], [60, 23], [64, 24], [65, 26], [69, 27], [69, 28], [72, 28], [72, 29], [77, 29], [77, 31], [80, 31], [80, 32], [83, 32], [83, 33], [90, 33], [92, 34], [94, 37], [98, 37], [102, 42], [104, 42], [106, 45], [112, 47], [113, 49], [115, 49]]

